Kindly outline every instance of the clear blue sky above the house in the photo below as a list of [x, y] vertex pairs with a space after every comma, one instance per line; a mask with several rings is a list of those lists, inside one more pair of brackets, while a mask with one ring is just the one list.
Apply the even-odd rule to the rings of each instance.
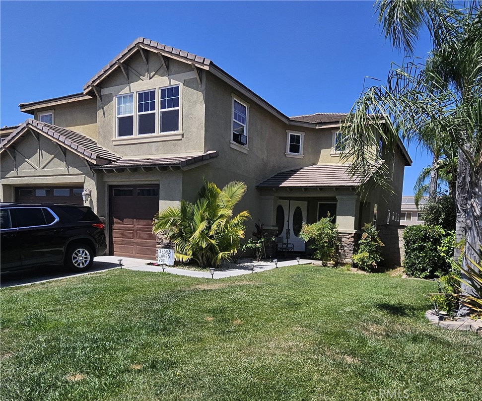
[[[211, 59], [288, 116], [348, 112], [403, 59], [373, 1], [2, 0], [0, 18], [1, 127], [29, 117], [19, 103], [81, 92], [139, 36]], [[415, 53], [429, 50], [425, 37]], [[430, 163], [409, 152], [404, 195]]]

